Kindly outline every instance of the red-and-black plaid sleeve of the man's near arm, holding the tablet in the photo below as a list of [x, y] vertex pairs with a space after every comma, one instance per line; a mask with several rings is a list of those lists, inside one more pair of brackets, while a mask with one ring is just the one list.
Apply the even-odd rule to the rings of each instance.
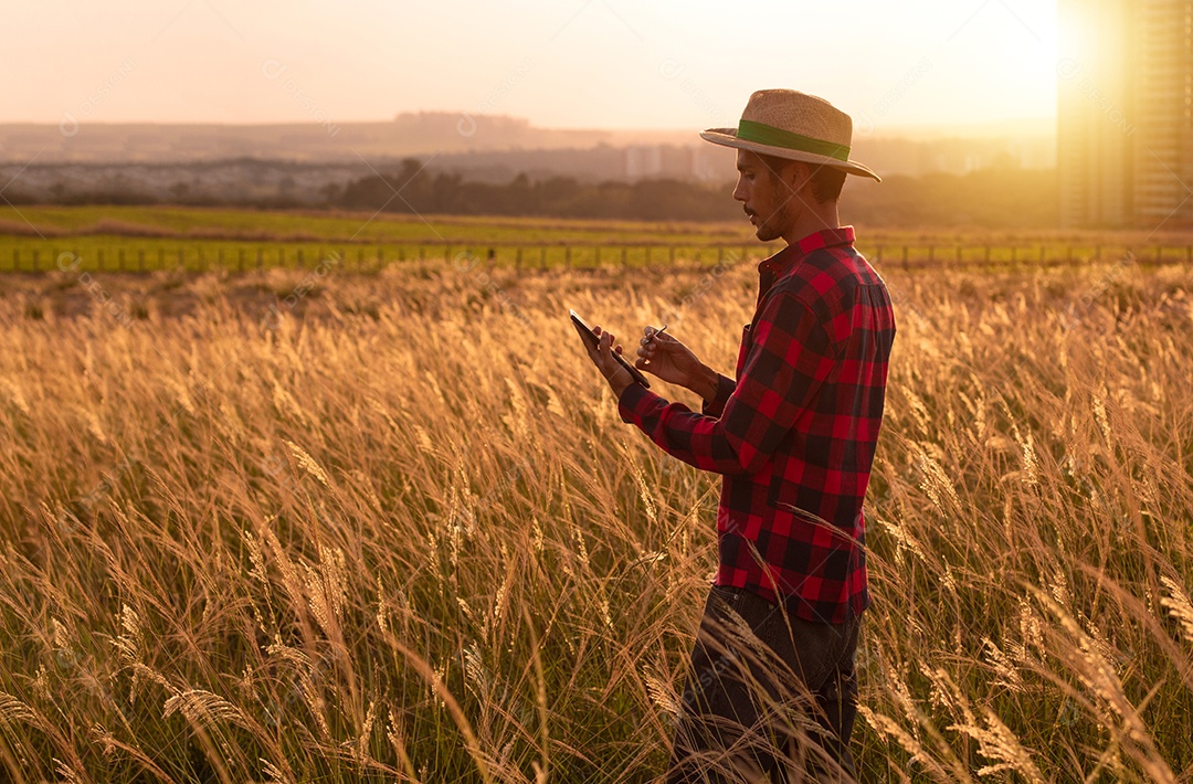
[[685, 463], [717, 474], [758, 473], [833, 372], [836, 352], [816, 314], [785, 291], [768, 298], [753, 337], [719, 416], [670, 403], [639, 384], [625, 388], [618, 413]]

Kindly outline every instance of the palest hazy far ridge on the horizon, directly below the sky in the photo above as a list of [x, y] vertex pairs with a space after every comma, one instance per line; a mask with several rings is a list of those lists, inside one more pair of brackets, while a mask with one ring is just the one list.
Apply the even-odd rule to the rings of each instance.
[[[82, 123], [0, 125], [0, 163], [211, 163], [271, 160], [376, 165], [434, 158], [439, 167], [483, 178], [563, 174], [638, 179], [724, 179], [733, 153], [703, 142], [698, 129], [561, 130], [507, 116], [403, 113], [388, 123], [156, 125]], [[882, 174], [964, 174], [1009, 156], [1026, 168], [1056, 165], [1040, 128], [923, 128], [900, 135], [859, 126], [854, 154]]]

